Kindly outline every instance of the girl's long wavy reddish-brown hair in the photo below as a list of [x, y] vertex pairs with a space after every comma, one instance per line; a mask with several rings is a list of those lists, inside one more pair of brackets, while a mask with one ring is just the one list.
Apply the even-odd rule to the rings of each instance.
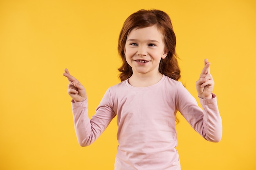
[[159, 72], [174, 80], [180, 79], [180, 67], [177, 62], [175, 53], [176, 36], [173, 32], [173, 26], [170, 17], [163, 11], [156, 9], [144, 10], [141, 9], [130, 15], [124, 22], [118, 39], [118, 52], [123, 61], [121, 67], [118, 69], [119, 78], [121, 81], [132, 76], [132, 68], [126, 61], [124, 48], [128, 33], [134, 28], [145, 28], [148, 26], [157, 26], [157, 29], [164, 37], [165, 49], [168, 54], [165, 59], [161, 59], [159, 63]]

